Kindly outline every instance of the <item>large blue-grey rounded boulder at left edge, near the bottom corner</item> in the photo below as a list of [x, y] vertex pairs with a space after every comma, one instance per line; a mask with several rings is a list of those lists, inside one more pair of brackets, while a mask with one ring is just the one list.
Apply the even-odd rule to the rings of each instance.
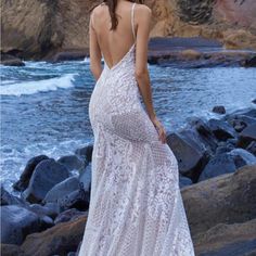
[[27, 234], [39, 232], [44, 220], [18, 205], [1, 206], [1, 242], [22, 244]]

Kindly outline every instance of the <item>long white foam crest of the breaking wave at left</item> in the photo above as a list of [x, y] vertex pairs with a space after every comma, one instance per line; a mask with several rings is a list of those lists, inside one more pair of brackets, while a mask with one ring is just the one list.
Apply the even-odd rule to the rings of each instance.
[[35, 94], [40, 91], [54, 91], [57, 88], [71, 88], [74, 87], [73, 81], [75, 75], [76, 74], [66, 74], [57, 78], [4, 85], [0, 87], [0, 94], [20, 97], [22, 94]]

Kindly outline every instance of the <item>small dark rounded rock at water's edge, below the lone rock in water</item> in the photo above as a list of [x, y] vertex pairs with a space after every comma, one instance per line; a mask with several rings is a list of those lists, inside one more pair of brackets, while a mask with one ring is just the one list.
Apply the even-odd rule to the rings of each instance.
[[212, 131], [218, 140], [226, 141], [229, 138], [235, 138], [235, 130], [228, 123], [219, 119], [209, 119], [208, 121]]

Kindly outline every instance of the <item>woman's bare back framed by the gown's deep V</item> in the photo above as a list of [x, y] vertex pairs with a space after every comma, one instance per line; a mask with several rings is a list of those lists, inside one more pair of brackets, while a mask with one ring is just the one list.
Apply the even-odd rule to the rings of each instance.
[[[118, 25], [111, 30], [111, 15], [106, 4], [93, 10], [92, 26], [95, 30], [99, 47], [108, 67], [116, 65], [135, 43], [131, 17], [132, 3], [119, 1], [116, 7]], [[136, 26], [135, 26], [136, 29]]]

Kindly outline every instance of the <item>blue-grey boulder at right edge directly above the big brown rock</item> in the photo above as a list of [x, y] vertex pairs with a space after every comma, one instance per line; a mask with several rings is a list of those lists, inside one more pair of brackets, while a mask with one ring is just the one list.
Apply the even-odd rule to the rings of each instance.
[[202, 171], [199, 181], [219, 175], [234, 172], [244, 165], [256, 165], [256, 157], [243, 149], [234, 149], [228, 153], [214, 156]]

